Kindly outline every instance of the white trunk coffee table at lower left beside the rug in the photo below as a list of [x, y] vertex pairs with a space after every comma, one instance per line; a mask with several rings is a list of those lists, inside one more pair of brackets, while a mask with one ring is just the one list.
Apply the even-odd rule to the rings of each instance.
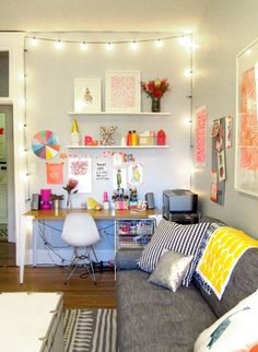
[[61, 293], [1, 293], [1, 351], [63, 352]]

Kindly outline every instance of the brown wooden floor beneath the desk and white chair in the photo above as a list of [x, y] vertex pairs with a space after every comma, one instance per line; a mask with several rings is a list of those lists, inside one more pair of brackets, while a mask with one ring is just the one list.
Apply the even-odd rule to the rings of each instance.
[[[12, 247], [13, 245], [9, 246]], [[64, 308], [116, 307], [116, 282], [113, 271], [96, 272], [97, 284], [92, 279], [81, 279], [85, 269], [78, 271], [64, 284], [67, 268], [25, 268], [25, 283], [19, 283], [19, 268], [9, 248], [4, 253], [0, 243], [0, 292], [63, 292]], [[13, 251], [14, 253], [14, 251]], [[11, 265], [12, 263], [12, 265]]]

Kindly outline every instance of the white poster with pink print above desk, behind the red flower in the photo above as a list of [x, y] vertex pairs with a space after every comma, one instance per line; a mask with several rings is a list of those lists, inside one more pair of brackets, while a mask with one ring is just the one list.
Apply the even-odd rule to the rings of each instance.
[[69, 157], [68, 178], [78, 180], [79, 193], [92, 192], [92, 160], [91, 157]]

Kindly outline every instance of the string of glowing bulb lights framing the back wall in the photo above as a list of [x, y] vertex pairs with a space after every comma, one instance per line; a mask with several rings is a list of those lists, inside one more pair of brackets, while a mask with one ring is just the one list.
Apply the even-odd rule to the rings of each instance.
[[[105, 33], [104, 33], [105, 34]], [[137, 51], [141, 48], [141, 45], [145, 43], [153, 44], [153, 48], [162, 50], [162, 48], [166, 45], [169, 45], [171, 40], [177, 40], [178, 45], [186, 48], [186, 50], [190, 55], [190, 62], [189, 67], [185, 69], [184, 74], [186, 78], [190, 79], [190, 92], [187, 98], [189, 98], [189, 116], [185, 118], [185, 122], [187, 126], [190, 127], [190, 160], [192, 160], [192, 130], [191, 130], [191, 120], [192, 120], [192, 52], [197, 48], [197, 45], [194, 42], [192, 34], [176, 34], [171, 36], [155, 36], [155, 38], [142, 38], [142, 39], [132, 39], [132, 40], [72, 40], [72, 39], [63, 39], [61, 36], [63, 34], [54, 33], [52, 37], [45, 37], [40, 36], [37, 33], [27, 34], [24, 37], [24, 98], [22, 104], [24, 105], [24, 120], [20, 126], [20, 129], [23, 130], [23, 142], [24, 146], [20, 148], [19, 154], [20, 156], [25, 156], [25, 173], [23, 176], [27, 179], [27, 189], [25, 190], [25, 201], [31, 201], [31, 193], [30, 193], [30, 181], [28, 178], [32, 173], [28, 172], [28, 155], [27, 155], [27, 138], [26, 138], [26, 127], [27, 127], [27, 64], [26, 64], [26, 52], [30, 51], [32, 48], [37, 48], [40, 46], [40, 43], [49, 43], [56, 50], [64, 50], [66, 46], [75, 46], [78, 50], [87, 51], [94, 47], [103, 47], [106, 51], [115, 51], [116, 47], [118, 46], [127, 46], [130, 50]], [[138, 34], [140, 35], [140, 34]], [[89, 35], [90, 37], [90, 35]], [[190, 166], [191, 168], [191, 166]], [[191, 186], [191, 172], [190, 172], [190, 186]]]

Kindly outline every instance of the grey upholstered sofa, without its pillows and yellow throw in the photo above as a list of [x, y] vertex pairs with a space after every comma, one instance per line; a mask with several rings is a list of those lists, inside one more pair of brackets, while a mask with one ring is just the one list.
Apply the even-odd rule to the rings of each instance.
[[119, 352], [191, 352], [202, 330], [258, 288], [257, 248], [242, 256], [221, 301], [195, 281], [176, 293], [149, 283], [139, 257], [139, 250], [117, 255]]

